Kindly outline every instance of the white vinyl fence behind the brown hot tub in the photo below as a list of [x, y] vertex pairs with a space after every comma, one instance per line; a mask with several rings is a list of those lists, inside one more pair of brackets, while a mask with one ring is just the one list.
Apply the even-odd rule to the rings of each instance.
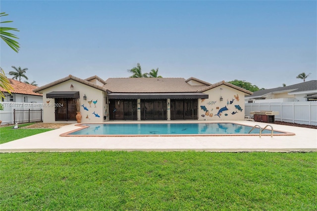
[[276, 121], [317, 125], [317, 101], [245, 104], [247, 116], [250, 116], [250, 111], [260, 110], [278, 111]]

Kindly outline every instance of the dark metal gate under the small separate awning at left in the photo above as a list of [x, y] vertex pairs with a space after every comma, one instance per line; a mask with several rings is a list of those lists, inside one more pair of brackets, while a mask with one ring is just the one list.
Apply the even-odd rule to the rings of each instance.
[[55, 98], [55, 121], [76, 120], [75, 99]]

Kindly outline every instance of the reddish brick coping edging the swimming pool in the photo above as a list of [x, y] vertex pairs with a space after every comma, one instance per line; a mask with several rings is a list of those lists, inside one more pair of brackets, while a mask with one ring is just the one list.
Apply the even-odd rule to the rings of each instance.
[[[221, 121], [221, 122], [157, 122], [155, 124], [189, 124], [189, 123], [197, 123], [197, 124], [208, 124], [208, 123], [232, 123], [232, 122], [228, 122], [228, 121]], [[98, 135], [94, 135], [94, 134], [90, 134], [90, 135], [79, 135], [79, 134], [76, 134], [76, 135], [70, 135], [70, 133], [73, 133], [73, 132], [77, 132], [77, 131], [80, 131], [80, 130], [83, 130], [85, 128], [88, 128], [89, 126], [88, 125], [84, 125], [84, 124], [153, 124], [152, 123], [149, 123], [147, 121], [142, 121], [142, 122], [116, 122], [116, 121], [113, 121], [113, 122], [103, 122], [103, 123], [78, 123], [78, 124], [75, 124], [75, 126], [79, 126], [81, 128], [77, 128], [77, 129], [74, 129], [74, 130], [71, 130], [71, 131], [68, 131], [68, 132], [65, 132], [65, 133], [62, 133], [60, 134], [59, 136], [62, 136], [62, 137], [179, 137], [179, 136], [260, 136], [260, 133], [259, 134], [120, 134], [120, 135], [101, 135], [101, 134], [98, 134]], [[243, 126], [248, 126], [248, 127], [251, 127], [250, 125], [247, 125], [247, 124], [241, 124], [241, 123], [235, 123], [235, 124], [239, 124], [239, 125], [243, 125]], [[255, 126], [254, 126], [255, 127]], [[263, 128], [261, 128], [263, 129]], [[270, 128], [266, 129], [266, 130], [269, 130], [271, 131]], [[273, 128], [273, 131], [276, 131], [276, 132], [280, 132], [278, 134], [273, 134], [273, 136], [294, 136], [295, 133], [292, 133], [292, 132], [287, 132], [287, 131], [281, 131], [281, 130], [274, 130]], [[271, 136], [270, 133], [262, 133], [261, 136]]]

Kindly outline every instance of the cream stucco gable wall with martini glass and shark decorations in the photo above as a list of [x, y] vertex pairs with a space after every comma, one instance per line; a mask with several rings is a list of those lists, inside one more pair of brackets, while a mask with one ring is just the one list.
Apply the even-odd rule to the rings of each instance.
[[[73, 85], [74, 88], [71, 89], [70, 85]], [[106, 114], [106, 100], [105, 94], [103, 91], [95, 89], [93, 87], [87, 86], [85, 84], [79, 83], [77, 81], [68, 80], [63, 83], [57, 84], [53, 87], [43, 90], [43, 103], [47, 104], [47, 106], [43, 107], [44, 114], [43, 114], [43, 122], [45, 123], [75, 123], [76, 121], [55, 121], [55, 114], [54, 114], [54, 99], [46, 98], [46, 94], [53, 92], [53, 91], [79, 91], [80, 96], [80, 112], [82, 115], [81, 122], [104, 122], [104, 115]], [[83, 96], [86, 94], [87, 100], [83, 99]], [[96, 104], [93, 101], [97, 101]], [[89, 104], [88, 102], [91, 102]], [[84, 106], [86, 109], [84, 109]], [[87, 110], [88, 109], [88, 110]], [[100, 116], [100, 117], [98, 117]]]

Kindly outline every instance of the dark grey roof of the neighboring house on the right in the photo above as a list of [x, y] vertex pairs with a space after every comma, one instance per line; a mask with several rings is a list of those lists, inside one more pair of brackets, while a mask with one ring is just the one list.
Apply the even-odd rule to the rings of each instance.
[[277, 87], [273, 89], [259, 90], [253, 93], [253, 95], [246, 98], [261, 98], [268, 94], [288, 93], [294, 95], [296, 93], [316, 93], [317, 92], [317, 80], [306, 81], [299, 84], [293, 84], [285, 87]]

